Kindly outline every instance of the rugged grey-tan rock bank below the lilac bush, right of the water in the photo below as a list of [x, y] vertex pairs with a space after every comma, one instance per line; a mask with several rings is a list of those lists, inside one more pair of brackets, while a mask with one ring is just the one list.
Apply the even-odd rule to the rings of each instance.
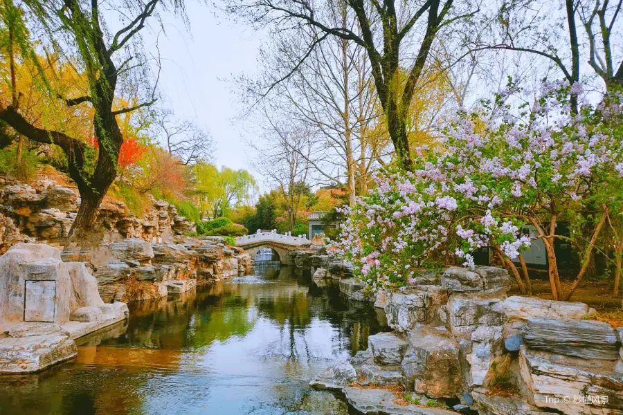
[[623, 329], [594, 320], [586, 304], [507, 297], [507, 271], [480, 266], [370, 293], [347, 264], [312, 251], [299, 250], [295, 262], [312, 268], [316, 284], [374, 302], [393, 330], [371, 335], [368, 350], [310, 382], [357, 411], [623, 414]]

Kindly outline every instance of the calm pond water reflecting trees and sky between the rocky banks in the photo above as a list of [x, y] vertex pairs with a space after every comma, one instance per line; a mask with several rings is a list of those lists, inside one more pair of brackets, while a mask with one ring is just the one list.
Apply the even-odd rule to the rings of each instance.
[[0, 377], [0, 414], [347, 414], [307, 382], [382, 330], [372, 304], [258, 262], [255, 275], [130, 304], [71, 362]]

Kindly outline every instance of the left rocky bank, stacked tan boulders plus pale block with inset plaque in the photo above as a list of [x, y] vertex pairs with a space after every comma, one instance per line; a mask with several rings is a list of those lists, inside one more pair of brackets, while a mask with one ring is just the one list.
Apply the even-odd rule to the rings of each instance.
[[181, 295], [253, 268], [251, 256], [224, 237], [185, 236], [194, 224], [154, 198], [141, 219], [105, 201], [96, 246], [61, 251], [78, 212], [77, 190], [49, 178], [1, 180], [0, 374], [75, 358], [74, 340], [126, 320], [127, 302]]

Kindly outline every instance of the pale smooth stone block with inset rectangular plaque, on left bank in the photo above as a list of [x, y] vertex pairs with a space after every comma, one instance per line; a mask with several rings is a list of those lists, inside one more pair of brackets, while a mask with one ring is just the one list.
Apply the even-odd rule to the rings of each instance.
[[73, 339], [128, 317], [123, 303], [104, 304], [84, 264], [60, 252], [18, 243], [0, 257], [0, 373], [41, 371], [78, 353]]

